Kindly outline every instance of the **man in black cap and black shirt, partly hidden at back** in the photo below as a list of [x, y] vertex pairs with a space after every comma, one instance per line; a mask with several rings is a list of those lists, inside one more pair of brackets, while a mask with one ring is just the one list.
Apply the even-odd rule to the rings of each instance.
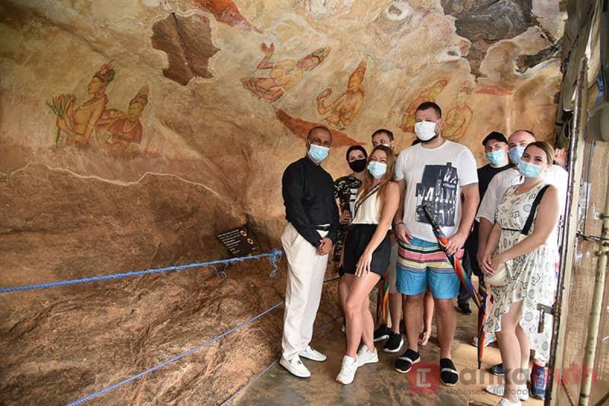
[[[505, 139], [505, 136], [501, 134], [501, 132], [493, 131], [488, 134], [488, 136], [482, 140], [482, 145], [484, 145], [484, 152], [487, 156], [488, 163], [487, 165], [484, 165], [484, 167], [478, 168], [478, 191], [480, 193], [481, 202], [493, 176], [510, 168], [510, 161], [507, 156], [507, 139]], [[465, 271], [469, 275], [474, 274], [478, 278], [482, 278], [484, 275], [476, 260], [476, 253], [478, 251], [478, 227], [479, 223], [474, 221], [473, 231], [465, 241], [465, 256], [463, 257], [463, 263]], [[461, 286], [459, 297], [457, 297], [457, 307], [459, 307], [463, 314], [471, 314], [470, 304], [468, 303], [470, 298], [470, 292]]]

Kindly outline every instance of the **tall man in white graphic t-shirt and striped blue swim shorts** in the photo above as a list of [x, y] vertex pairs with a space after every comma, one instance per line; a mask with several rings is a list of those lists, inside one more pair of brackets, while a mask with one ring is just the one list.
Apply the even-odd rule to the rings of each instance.
[[423, 323], [423, 297], [429, 286], [437, 314], [440, 380], [452, 386], [459, 381], [451, 360], [456, 328], [453, 302], [459, 295], [459, 278], [422, 207], [428, 208], [449, 238], [448, 255], [463, 256], [463, 243], [479, 202], [477, 165], [468, 148], [442, 138], [442, 110], [437, 104], [422, 103], [415, 118], [415, 133], [421, 142], [402, 151], [395, 168], [403, 196], [393, 224], [400, 244], [396, 286], [406, 298], [408, 335], [408, 349], [396, 360], [395, 369], [407, 373], [421, 359], [417, 340]]

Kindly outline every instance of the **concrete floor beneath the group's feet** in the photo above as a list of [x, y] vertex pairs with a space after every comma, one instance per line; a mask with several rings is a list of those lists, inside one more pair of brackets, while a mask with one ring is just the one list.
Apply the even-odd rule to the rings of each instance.
[[[457, 331], [452, 357], [460, 371], [460, 383], [456, 387], [438, 384], [438, 346], [435, 327], [427, 346], [420, 347], [421, 363], [407, 374], [393, 369], [398, 354], [382, 351], [377, 345], [379, 362], [364, 365], [357, 370], [353, 384], [341, 385], [336, 380], [345, 351], [346, 338], [340, 331], [339, 319], [312, 342], [314, 348], [328, 356], [325, 362], [303, 359], [311, 371], [308, 379], [299, 379], [276, 363], [262, 374], [235, 399], [239, 405], [495, 405], [499, 398], [484, 391], [487, 384], [502, 382], [488, 373], [488, 368], [501, 362], [495, 344], [485, 348], [482, 370], [478, 371], [476, 348], [470, 345], [476, 331], [477, 317], [457, 311]], [[435, 324], [435, 323], [434, 323]], [[425, 375], [423, 369], [431, 368]], [[418, 371], [418, 373], [417, 373]], [[437, 370], [435, 370], [437, 371]], [[432, 376], [431, 378], [426, 378]], [[417, 377], [419, 384], [417, 384]], [[482, 383], [481, 383], [482, 382]], [[543, 402], [531, 398], [527, 406], [541, 406]]]

